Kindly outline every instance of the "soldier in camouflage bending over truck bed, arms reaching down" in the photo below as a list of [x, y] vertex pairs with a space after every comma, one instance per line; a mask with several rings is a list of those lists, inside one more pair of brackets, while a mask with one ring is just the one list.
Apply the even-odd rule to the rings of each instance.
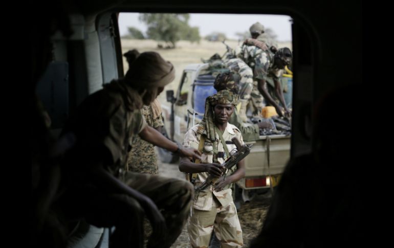
[[[274, 54], [267, 48], [267, 46], [265, 46], [264, 43], [262, 43], [261, 47], [244, 44], [238, 54], [238, 57], [242, 58], [253, 69], [253, 78], [255, 81], [253, 82], [252, 98], [253, 92], [257, 89], [258, 92], [266, 99], [266, 102], [275, 107], [279, 116], [286, 116], [287, 118], [290, 118], [291, 112], [288, 109], [286, 102], [284, 102], [283, 91], [279, 81], [279, 77], [281, 76], [281, 73], [283, 73], [284, 66], [291, 63], [292, 53], [290, 49], [281, 48]], [[273, 79], [274, 85], [266, 85], [267, 77], [271, 77]], [[269, 88], [271, 94], [268, 93], [267, 88]], [[274, 100], [273, 96], [276, 96], [276, 100]], [[279, 106], [279, 102], [283, 107]], [[257, 107], [260, 112], [261, 106], [262, 103], [260, 103], [260, 105], [255, 104], [255, 107]]]

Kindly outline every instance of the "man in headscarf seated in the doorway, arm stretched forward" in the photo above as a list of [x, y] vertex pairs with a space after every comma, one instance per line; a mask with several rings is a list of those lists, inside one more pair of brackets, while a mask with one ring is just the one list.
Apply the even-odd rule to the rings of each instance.
[[67, 219], [115, 226], [111, 247], [142, 247], [144, 214], [153, 227], [148, 247], [169, 247], [186, 221], [190, 183], [124, 170], [135, 134], [180, 156], [200, 158], [198, 150], [178, 147], [149, 127], [141, 114], [142, 105], [154, 101], [173, 78], [170, 62], [156, 52], [142, 53], [124, 78], [87, 97], [64, 128], [77, 142], [62, 164], [68, 188], [60, 206]]

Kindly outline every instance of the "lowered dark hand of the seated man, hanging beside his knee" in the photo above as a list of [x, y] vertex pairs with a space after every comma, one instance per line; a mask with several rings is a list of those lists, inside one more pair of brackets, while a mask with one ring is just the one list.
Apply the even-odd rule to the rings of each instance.
[[162, 238], [166, 235], [165, 219], [157, 208], [155, 202], [146, 196], [140, 201], [140, 205], [144, 209], [146, 217], [149, 219], [152, 226], [152, 240]]

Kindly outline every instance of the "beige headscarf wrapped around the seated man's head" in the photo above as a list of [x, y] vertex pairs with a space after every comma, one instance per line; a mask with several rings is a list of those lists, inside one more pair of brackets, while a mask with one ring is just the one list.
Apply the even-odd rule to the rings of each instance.
[[125, 82], [135, 88], [163, 87], [175, 78], [174, 66], [156, 52], [141, 53], [126, 73]]

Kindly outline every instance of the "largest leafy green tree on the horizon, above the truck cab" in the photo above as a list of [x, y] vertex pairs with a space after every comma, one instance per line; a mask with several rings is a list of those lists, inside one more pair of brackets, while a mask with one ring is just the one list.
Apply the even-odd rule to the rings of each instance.
[[139, 18], [148, 26], [148, 38], [169, 42], [170, 48], [175, 48], [176, 42], [181, 39], [200, 40], [199, 28], [192, 28], [188, 24], [189, 14], [143, 13]]

